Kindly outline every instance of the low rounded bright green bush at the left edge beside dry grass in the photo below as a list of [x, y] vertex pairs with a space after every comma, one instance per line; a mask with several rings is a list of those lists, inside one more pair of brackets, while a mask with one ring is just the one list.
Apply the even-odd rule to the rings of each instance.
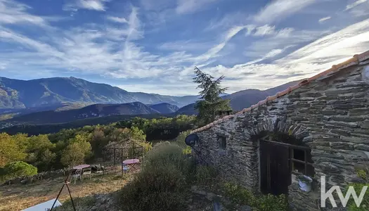
[[22, 161], [10, 162], [0, 169], [0, 181], [34, 174], [37, 174], [37, 167]]

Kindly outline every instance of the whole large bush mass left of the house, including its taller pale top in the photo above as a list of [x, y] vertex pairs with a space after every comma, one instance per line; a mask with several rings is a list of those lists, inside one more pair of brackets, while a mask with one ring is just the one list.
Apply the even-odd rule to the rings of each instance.
[[141, 172], [122, 188], [118, 205], [126, 211], [186, 210], [188, 181], [194, 173], [194, 163], [181, 147], [157, 143], [145, 156]]

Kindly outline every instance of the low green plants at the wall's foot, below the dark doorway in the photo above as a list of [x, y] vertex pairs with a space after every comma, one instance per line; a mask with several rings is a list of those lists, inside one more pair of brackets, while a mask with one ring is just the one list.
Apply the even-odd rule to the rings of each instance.
[[256, 211], [285, 211], [288, 209], [287, 198], [284, 195], [255, 196], [246, 188], [232, 183], [224, 184], [224, 192], [228, 198], [231, 198], [232, 203], [249, 205]]

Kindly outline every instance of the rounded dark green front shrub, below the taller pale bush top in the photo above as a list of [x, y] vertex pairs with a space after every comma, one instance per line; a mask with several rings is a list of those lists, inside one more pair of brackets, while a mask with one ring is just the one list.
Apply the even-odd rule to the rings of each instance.
[[186, 177], [171, 164], [145, 168], [122, 188], [118, 205], [125, 211], [184, 210]]

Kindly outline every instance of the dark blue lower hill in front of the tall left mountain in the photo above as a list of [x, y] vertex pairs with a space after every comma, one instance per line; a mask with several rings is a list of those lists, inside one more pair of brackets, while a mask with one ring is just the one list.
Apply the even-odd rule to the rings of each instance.
[[94, 104], [72, 110], [46, 110], [13, 117], [12, 124], [54, 124], [110, 115], [146, 115], [159, 113], [140, 102], [124, 104]]

